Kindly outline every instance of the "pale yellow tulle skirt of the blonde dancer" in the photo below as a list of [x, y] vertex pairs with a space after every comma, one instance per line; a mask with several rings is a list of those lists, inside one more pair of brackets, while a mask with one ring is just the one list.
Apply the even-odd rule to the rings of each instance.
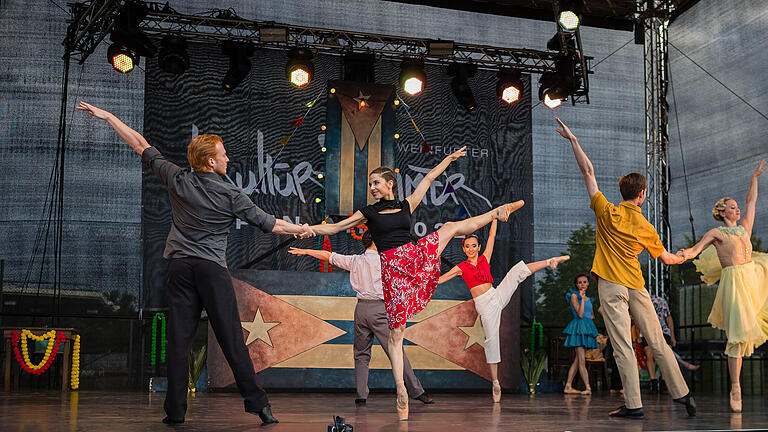
[[755, 252], [751, 262], [721, 268], [710, 246], [693, 263], [707, 285], [720, 280], [707, 321], [725, 331], [725, 354], [752, 355], [768, 340], [768, 254]]

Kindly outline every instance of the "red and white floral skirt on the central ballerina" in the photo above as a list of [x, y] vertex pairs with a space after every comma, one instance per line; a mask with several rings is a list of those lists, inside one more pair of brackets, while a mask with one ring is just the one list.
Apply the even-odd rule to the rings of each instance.
[[390, 329], [424, 309], [435, 293], [440, 277], [437, 231], [417, 243], [406, 243], [379, 253], [384, 307]]

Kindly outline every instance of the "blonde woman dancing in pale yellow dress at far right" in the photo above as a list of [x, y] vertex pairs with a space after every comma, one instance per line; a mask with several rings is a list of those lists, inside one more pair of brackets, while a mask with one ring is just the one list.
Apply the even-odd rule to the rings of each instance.
[[[690, 249], [678, 252], [694, 261], [701, 279], [708, 285], [720, 280], [707, 321], [725, 330], [728, 343], [728, 372], [731, 376], [731, 410], [741, 412], [742, 357], [750, 356], [755, 348], [768, 339], [768, 255], [752, 253], [752, 225], [755, 221], [757, 179], [766, 170], [760, 161], [752, 174], [747, 192], [747, 208], [741, 217], [739, 205], [732, 198], [721, 198], [712, 210], [715, 220], [723, 226], [707, 232]], [[708, 247], [712, 246], [712, 247]], [[706, 250], [704, 250], [706, 248]], [[704, 251], [702, 253], [702, 250]]]

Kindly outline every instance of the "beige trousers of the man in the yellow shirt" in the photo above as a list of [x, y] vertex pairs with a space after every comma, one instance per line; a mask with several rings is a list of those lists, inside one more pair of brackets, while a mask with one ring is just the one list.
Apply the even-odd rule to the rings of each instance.
[[688, 385], [685, 384], [683, 374], [677, 366], [672, 348], [664, 340], [661, 324], [648, 291], [627, 288], [605, 279], [598, 279], [597, 291], [603, 308], [605, 327], [613, 345], [616, 365], [624, 384], [624, 405], [630, 409], [643, 406], [640, 399], [637, 359], [632, 349], [630, 312], [648, 346], [653, 350], [653, 357], [661, 368], [670, 396], [677, 399], [688, 394]]

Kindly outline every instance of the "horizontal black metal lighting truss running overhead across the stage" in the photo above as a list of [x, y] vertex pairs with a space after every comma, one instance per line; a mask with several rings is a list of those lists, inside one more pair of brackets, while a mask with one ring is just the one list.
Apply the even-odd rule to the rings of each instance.
[[[70, 3], [73, 19], [68, 35], [72, 58], [81, 64], [111, 31], [123, 2], [91, 0]], [[273, 49], [304, 47], [329, 54], [351, 52], [372, 53], [390, 59], [420, 58], [427, 63], [473, 63], [481, 69], [512, 68], [523, 73], [541, 74], [555, 69], [559, 52], [522, 48], [502, 48], [453, 41], [388, 36], [344, 30], [302, 27], [273, 22], [242, 19], [229, 10], [215, 10], [208, 15], [184, 15], [167, 5], [144, 3], [149, 13], [139, 29], [147, 35], [177, 35], [188, 40], [239, 40]], [[284, 36], [283, 36], [284, 35]], [[578, 38], [578, 33], [577, 33]], [[578, 38], [579, 48], [581, 40]], [[443, 53], [435, 51], [437, 44], [447, 45]], [[452, 49], [451, 49], [452, 46]], [[432, 50], [430, 50], [432, 47]], [[583, 57], [583, 56], [581, 56]], [[579, 87], [574, 101], [589, 102], [587, 75], [592, 57], [583, 57], [576, 67]]]

